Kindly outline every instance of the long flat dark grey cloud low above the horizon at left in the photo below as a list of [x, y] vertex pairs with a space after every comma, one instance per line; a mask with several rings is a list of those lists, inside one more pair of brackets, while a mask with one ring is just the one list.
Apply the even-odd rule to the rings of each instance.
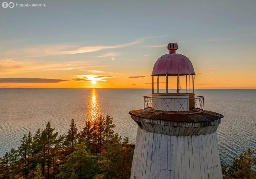
[[59, 83], [66, 80], [47, 78], [0, 78], [0, 83]]

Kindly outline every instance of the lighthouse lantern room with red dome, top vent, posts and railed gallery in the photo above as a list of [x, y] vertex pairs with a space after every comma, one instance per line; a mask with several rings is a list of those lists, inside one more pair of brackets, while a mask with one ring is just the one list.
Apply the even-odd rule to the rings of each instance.
[[[169, 43], [167, 49], [169, 53], [160, 57], [153, 67], [152, 95], [144, 96], [144, 109], [169, 112], [189, 111], [189, 113], [203, 111], [204, 97], [195, 96], [195, 71], [191, 61], [185, 55], [176, 53], [177, 43]], [[186, 80], [183, 92], [180, 86], [181, 78]], [[162, 91], [162, 88], [160, 92], [160, 84], [163, 83], [165, 89]], [[169, 89], [169, 83], [177, 84], [176, 92]]]

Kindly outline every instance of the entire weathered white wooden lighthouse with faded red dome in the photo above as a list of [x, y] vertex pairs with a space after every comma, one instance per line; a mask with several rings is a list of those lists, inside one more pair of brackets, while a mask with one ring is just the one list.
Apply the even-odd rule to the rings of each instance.
[[[216, 133], [223, 115], [204, 110], [194, 67], [176, 53], [178, 44], [167, 49], [153, 67], [144, 108], [129, 112], [138, 125], [131, 179], [223, 178]], [[168, 89], [170, 83], [177, 89]]]

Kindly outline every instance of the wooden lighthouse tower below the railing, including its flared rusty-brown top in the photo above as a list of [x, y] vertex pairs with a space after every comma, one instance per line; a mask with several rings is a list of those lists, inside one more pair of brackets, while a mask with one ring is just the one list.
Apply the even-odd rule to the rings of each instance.
[[216, 133], [222, 115], [211, 111], [172, 115], [142, 109], [130, 114], [138, 124], [131, 179], [222, 178]]

